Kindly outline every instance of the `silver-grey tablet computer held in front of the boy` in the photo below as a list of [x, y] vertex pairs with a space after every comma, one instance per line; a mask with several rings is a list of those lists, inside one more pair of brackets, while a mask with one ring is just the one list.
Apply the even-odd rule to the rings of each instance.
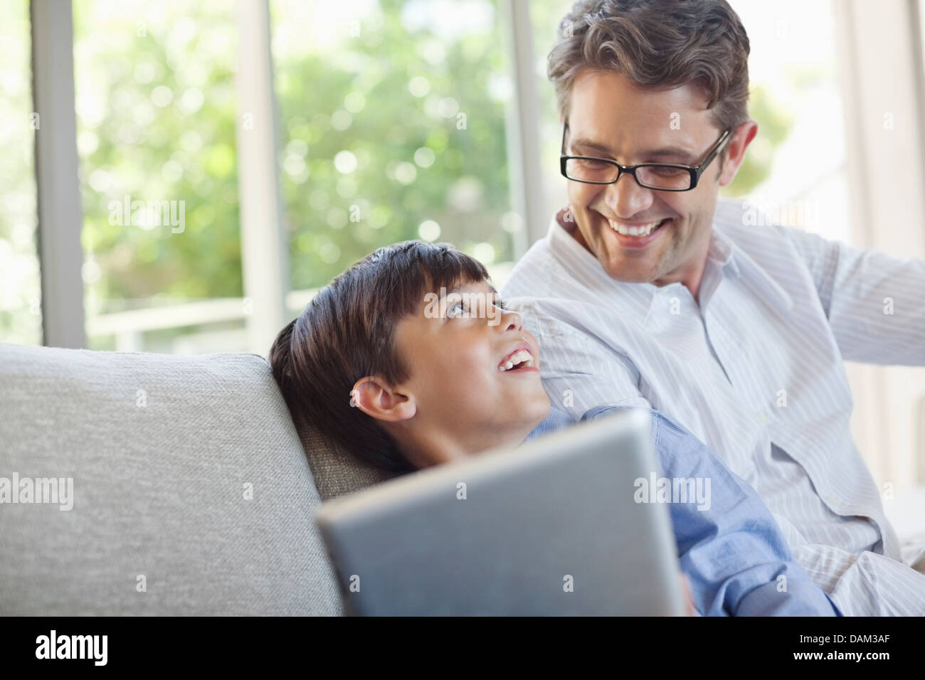
[[321, 505], [350, 615], [683, 615], [650, 414], [628, 409]]

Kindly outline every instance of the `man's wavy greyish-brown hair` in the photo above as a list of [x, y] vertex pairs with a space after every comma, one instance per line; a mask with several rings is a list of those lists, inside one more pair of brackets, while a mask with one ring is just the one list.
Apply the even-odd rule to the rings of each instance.
[[748, 36], [725, 0], [579, 0], [559, 35], [547, 75], [562, 118], [575, 78], [590, 68], [644, 87], [695, 83], [720, 130], [748, 119]]

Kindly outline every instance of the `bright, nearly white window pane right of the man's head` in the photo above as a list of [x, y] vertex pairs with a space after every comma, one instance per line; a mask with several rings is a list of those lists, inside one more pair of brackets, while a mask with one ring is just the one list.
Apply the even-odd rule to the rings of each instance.
[[751, 44], [748, 108], [759, 133], [723, 194], [746, 199], [774, 224], [853, 243], [833, 6], [730, 5]]

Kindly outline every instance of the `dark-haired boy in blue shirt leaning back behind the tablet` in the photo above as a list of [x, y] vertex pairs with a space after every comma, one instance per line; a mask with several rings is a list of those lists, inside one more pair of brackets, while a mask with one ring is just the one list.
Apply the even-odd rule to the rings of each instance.
[[[397, 474], [567, 427], [543, 389], [536, 339], [487, 281], [475, 259], [422, 241], [380, 248], [334, 278], [270, 350], [293, 419]], [[661, 475], [711, 483], [708, 508], [669, 504], [697, 612], [840, 615], [754, 490], [651, 414]]]

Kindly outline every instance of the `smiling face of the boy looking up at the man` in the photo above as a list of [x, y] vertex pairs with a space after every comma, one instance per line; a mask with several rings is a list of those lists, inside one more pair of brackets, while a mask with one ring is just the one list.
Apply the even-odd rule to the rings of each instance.
[[410, 437], [429, 464], [519, 444], [549, 414], [536, 338], [499, 302], [487, 281], [463, 283], [425, 296], [396, 328], [411, 377], [394, 391], [413, 415], [393, 421], [391, 431]]

